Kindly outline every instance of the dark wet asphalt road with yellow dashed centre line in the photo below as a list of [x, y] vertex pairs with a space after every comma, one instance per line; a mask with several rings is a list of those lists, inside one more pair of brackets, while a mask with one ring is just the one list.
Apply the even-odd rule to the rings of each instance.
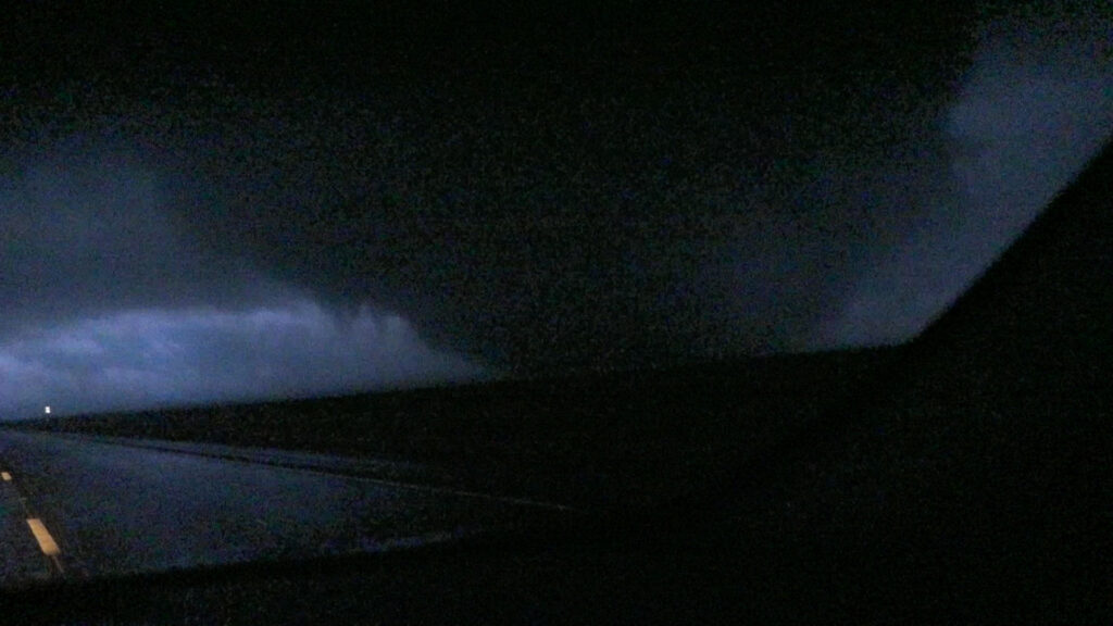
[[0, 431], [0, 586], [451, 540], [543, 503]]

